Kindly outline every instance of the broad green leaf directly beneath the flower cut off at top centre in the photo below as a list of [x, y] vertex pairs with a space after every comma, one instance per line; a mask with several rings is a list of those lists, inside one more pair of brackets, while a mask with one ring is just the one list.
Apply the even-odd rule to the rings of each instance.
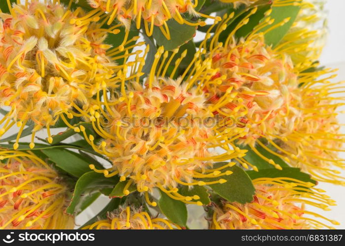
[[158, 46], [164, 46], [165, 50], [173, 50], [191, 40], [196, 32], [196, 27], [179, 24], [173, 19], [167, 21], [171, 39], [168, 40], [158, 27], [154, 27], [153, 37]]

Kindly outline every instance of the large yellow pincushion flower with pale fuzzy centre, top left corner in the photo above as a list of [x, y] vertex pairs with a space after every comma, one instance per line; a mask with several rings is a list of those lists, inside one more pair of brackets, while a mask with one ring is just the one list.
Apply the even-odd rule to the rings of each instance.
[[70, 126], [66, 116], [82, 116], [77, 109], [88, 108], [100, 84], [111, 82], [121, 67], [113, 62], [118, 48], [103, 42], [116, 30], [100, 28], [100, 13], [71, 11], [56, 1], [9, 8], [10, 14], [0, 13], [0, 106], [10, 107], [0, 136], [17, 123], [16, 149], [25, 124], [33, 122], [33, 148], [36, 131], [46, 127], [51, 142], [50, 127], [59, 119]]

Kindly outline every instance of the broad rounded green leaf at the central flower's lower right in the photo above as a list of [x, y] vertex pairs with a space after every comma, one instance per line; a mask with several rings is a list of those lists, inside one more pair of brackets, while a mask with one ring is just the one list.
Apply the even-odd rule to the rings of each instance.
[[[224, 166], [224, 162], [214, 164], [214, 168]], [[249, 176], [238, 166], [227, 167], [222, 171], [231, 171], [231, 175], [222, 176], [227, 182], [223, 184], [209, 184], [208, 186], [213, 189], [221, 197], [229, 202], [248, 203], [253, 200], [255, 188]], [[219, 178], [203, 179], [205, 182], [216, 181]]]

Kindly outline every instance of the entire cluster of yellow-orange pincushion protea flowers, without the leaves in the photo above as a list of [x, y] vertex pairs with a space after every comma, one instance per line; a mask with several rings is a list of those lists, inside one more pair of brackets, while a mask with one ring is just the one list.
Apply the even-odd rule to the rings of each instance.
[[[255, 2], [221, 1], [234, 7]], [[30, 148], [35, 147], [35, 133], [41, 128], [46, 128], [47, 141], [52, 143], [50, 128], [61, 120], [112, 164], [99, 169], [90, 163], [92, 170], [106, 178], [119, 176], [123, 196], [135, 186], [152, 207], [157, 206], [152, 201], [155, 190], [202, 206], [199, 195], [183, 195], [181, 189], [226, 184], [232, 175], [229, 167], [236, 164], [259, 171], [256, 163], [245, 159], [247, 150], [242, 147], [246, 146], [273, 168], [282, 166], [258, 147], [315, 180], [345, 184], [337, 170], [345, 167], [338, 157], [344, 143], [337, 121], [342, 104], [332, 96], [341, 87], [329, 82], [332, 70], [315, 69], [325, 33], [308, 27], [320, 21], [316, 13], [322, 2], [304, 2], [292, 29], [276, 47], [265, 43], [265, 34], [274, 29], [267, 29], [274, 22], [270, 11], [246, 37], [236, 36], [257, 8], [251, 8], [220, 40], [235, 12], [210, 17], [195, 10], [197, 0], [88, 0], [94, 8], [89, 12], [81, 7], [71, 10], [69, 3], [18, 1], [9, 5], [9, 14], [0, 13], [0, 106], [9, 108], [0, 120], [0, 136], [14, 124], [19, 127], [13, 150], [0, 149], [0, 228], [74, 226], [72, 216], [64, 213], [70, 190], [63, 178], [34, 153], [16, 151], [29, 122], [34, 124]], [[273, 5], [296, 5], [296, 1], [276, 0]], [[143, 25], [147, 36], [157, 26], [171, 39], [170, 19], [181, 25], [206, 25], [187, 20], [187, 13], [191, 18], [214, 20], [192, 61], [180, 71], [187, 50], [159, 47], [150, 71], [145, 72], [150, 47], [131, 51], [144, 44], [132, 44], [138, 40], [129, 38], [132, 21], [137, 29]], [[114, 20], [119, 24], [111, 26]], [[106, 44], [107, 35], [117, 34], [122, 25], [121, 44]], [[90, 123], [98, 138], [83, 125], [70, 124], [74, 117]], [[220, 165], [215, 166], [217, 162]], [[314, 184], [292, 178], [252, 182], [251, 203], [222, 198], [209, 204], [210, 229], [309, 229], [338, 224], [305, 208], [328, 210], [328, 205], [335, 204]], [[127, 206], [84, 229], [181, 227]]]

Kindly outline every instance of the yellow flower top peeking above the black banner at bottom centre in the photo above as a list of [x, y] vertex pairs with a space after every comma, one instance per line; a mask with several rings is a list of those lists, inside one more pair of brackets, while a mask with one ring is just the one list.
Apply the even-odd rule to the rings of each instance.
[[120, 207], [114, 213], [109, 213], [107, 219], [99, 220], [82, 229], [164, 230], [181, 229], [181, 227], [163, 218], [151, 218], [148, 213], [135, 208]]

